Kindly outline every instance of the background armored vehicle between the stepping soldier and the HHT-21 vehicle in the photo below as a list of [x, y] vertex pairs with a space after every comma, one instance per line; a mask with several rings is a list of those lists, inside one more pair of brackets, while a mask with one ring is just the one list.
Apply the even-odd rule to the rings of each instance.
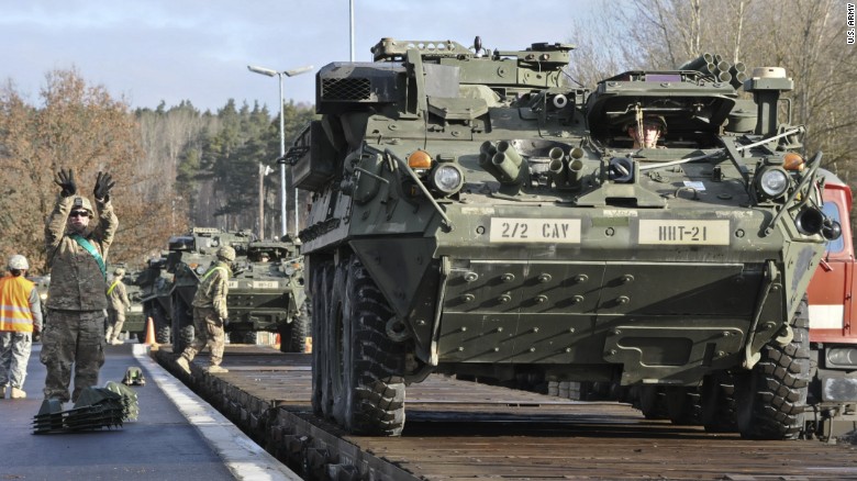
[[256, 333], [280, 335], [280, 350], [303, 353], [309, 336], [303, 259], [293, 243], [259, 240], [236, 257], [226, 305], [230, 342], [256, 344]]

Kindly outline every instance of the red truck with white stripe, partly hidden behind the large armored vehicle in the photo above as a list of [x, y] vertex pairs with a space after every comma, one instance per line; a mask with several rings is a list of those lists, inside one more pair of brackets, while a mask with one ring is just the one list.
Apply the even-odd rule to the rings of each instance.
[[808, 432], [839, 437], [857, 429], [857, 312], [854, 310], [855, 257], [849, 213], [852, 190], [825, 174], [824, 215], [842, 226], [842, 236], [827, 250], [809, 288], [810, 385]]

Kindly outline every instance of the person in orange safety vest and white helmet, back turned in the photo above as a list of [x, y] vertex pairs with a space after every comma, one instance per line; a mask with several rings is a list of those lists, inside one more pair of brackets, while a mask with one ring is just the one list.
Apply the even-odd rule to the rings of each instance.
[[35, 283], [25, 275], [30, 269], [26, 258], [9, 258], [9, 275], [0, 279], [0, 399], [12, 389], [11, 399], [24, 399], [24, 379], [33, 333], [42, 331], [42, 305]]

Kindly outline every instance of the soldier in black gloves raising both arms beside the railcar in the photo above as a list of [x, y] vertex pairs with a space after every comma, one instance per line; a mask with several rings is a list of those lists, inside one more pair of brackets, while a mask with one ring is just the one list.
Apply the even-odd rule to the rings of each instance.
[[[47, 312], [51, 322], [42, 336], [42, 363], [47, 368], [45, 399], [77, 401], [80, 392], [98, 384], [104, 363], [108, 249], [119, 226], [110, 203], [115, 186], [109, 174], [98, 172], [94, 194], [98, 223], [89, 199], [79, 195], [71, 169], [59, 170], [54, 182], [62, 188], [45, 225], [51, 268]], [[75, 391], [68, 385], [75, 369]]]

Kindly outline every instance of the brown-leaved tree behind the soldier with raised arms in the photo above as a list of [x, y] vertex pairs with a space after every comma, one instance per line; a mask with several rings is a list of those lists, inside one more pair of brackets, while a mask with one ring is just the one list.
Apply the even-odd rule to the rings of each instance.
[[113, 176], [120, 230], [109, 260], [142, 260], [171, 225], [153, 222], [168, 211], [134, 192], [145, 177], [136, 169], [143, 152], [127, 103], [87, 85], [74, 69], [49, 72], [41, 99], [43, 107], [35, 108], [11, 83], [0, 90], [0, 170], [9, 179], [0, 193], [0, 250], [26, 255], [35, 272], [44, 269], [44, 222], [58, 193], [54, 176], [70, 168], [79, 192], [90, 198], [98, 171]]

